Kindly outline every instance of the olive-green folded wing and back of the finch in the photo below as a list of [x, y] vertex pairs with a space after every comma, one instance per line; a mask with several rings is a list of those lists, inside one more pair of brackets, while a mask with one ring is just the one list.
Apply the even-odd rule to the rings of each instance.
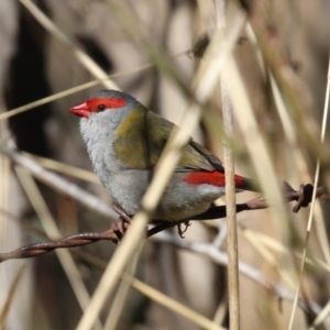
[[[132, 129], [133, 123], [133, 129]], [[153, 168], [175, 125], [163, 117], [139, 107], [133, 110], [116, 131], [113, 147], [118, 158], [129, 169]], [[221, 162], [195, 141], [183, 148], [176, 170], [215, 170]]]

